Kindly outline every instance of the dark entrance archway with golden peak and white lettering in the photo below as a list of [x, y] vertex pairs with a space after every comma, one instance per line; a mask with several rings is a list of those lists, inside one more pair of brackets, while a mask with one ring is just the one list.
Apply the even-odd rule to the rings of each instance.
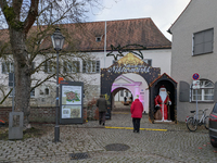
[[148, 85], [150, 85], [161, 75], [161, 68], [150, 66], [132, 53], [126, 54], [107, 68], [101, 68], [101, 95], [104, 95], [107, 100], [108, 113], [111, 113], [112, 109], [112, 85], [119, 75], [127, 73], [139, 74], [146, 80]]

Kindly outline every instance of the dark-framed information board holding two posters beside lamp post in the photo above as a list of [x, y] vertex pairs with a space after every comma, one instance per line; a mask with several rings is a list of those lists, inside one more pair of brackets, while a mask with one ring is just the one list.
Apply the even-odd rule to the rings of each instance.
[[84, 83], [61, 82], [60, 124], [82, 124]]

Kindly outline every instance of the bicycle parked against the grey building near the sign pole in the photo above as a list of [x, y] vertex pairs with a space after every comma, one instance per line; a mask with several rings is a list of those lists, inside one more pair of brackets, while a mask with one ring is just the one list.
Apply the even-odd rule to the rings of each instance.
[[197, 129], [197, 126], [201, 126], [201, 125], [204, 125], [204, 127], [206, 129], [208, 129], [208, 118], [209, 118], [209, 116], [206, 115], [207, 110], [208, 109], [200, 110], [200, 111], [203, 112], [203, 114], [202, 114], [201, 118], [199, 118], [199, 120], [196, 120], [195, 111], [190, 111], [191, 113], [194, 113], [193, 116], [189, 116], [186, 120], [187, 127], [190, 131], [195, 131]]

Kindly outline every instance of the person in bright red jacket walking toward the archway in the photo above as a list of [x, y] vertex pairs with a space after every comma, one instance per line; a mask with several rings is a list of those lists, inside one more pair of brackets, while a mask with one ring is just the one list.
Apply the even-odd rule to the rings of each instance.
[[132, 125], [133, 125], [133, 133], [139, 133], [140, 130], [140, 121], [142, 118], [143, 105], [140, 102], [139, 97], [132, 102], [130, 106], [131, 117], [132, 117]]

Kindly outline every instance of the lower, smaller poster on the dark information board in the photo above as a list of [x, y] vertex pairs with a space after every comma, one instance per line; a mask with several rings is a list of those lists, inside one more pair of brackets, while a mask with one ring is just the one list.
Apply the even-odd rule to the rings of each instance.
[[81, 105], [62, 105], [62, 118], [80, 118]]

